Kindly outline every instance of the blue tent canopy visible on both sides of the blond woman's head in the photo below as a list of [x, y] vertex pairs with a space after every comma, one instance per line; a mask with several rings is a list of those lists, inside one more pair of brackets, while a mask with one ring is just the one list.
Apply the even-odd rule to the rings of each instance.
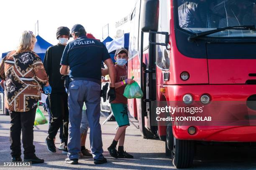
[[[52, 46], [49, 42], [47, 42], [46, 40], [44, 40], [42, 37], [40, 37], [39, 35], [36, 36], [36, 44], [34, 47], [34, 52], [36, 52], [42, 61], [44, 61], [44, 55], [45, 52], [47, 50], [48, 47]], [[4, 52], [2, 53], [2, 58], [5, 57], [9, 52]], [[2, 60], [1, 58], [1, 60]]]

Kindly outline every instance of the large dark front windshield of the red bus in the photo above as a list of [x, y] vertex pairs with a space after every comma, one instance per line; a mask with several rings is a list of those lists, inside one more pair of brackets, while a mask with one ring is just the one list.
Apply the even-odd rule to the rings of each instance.
[[[178, 0], [179, 27], [192, 33], [255, 25], [256, 0]], [[256, 37], [256, 30], [223, 30], [209, 37]]]

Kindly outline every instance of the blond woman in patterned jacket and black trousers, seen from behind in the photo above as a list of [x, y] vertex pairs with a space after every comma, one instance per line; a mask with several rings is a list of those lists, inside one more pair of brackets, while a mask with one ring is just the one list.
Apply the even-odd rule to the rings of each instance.
[[4, 80], [5, 106], [10, 112], [10, 149], [12, 161], [20, 158], [20, 133], [24, 148], [24, 161], [44, 163], [35, 155], [33, 125], [41, 88], [51, 92], [48, 77], [40, 57], [33, 52], [36, 36], [24, 31], [17, 50], [6, 55], [0, 64], [0, 78]]

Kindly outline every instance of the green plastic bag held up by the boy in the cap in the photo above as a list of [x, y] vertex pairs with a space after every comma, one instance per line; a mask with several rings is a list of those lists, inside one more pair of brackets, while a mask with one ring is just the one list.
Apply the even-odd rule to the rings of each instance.
[[[134, 78], [134, 76], [131, 79], [133, 79], [133, 78]], [[128, 99], [141, 98], [141, 97], [143, 97], [143, 92], [141, 90], [141, 87], [135, 81], [135, 82], [131, 83], [130, 85], [126, 85], [123, 95], [124, 95], [124, 97], [126, 97]]]

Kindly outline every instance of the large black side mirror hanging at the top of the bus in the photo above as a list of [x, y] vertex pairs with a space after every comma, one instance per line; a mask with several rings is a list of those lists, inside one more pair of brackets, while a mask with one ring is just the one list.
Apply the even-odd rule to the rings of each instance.
[[142, 32], [157, 31], [159, 20], [159, 0], [143, 0], [142, 2]]

